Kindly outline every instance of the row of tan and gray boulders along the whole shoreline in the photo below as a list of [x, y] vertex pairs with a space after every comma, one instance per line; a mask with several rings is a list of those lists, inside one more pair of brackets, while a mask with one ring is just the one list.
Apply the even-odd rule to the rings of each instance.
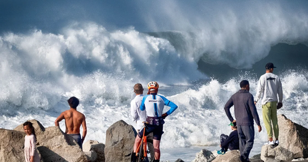
[[[44, 128], [37, 120], [29, 120], [35, 129], [37, 144], [41, 161], [130, 161], [134, 137], [137, 132], [131, 125], [120, 120], [113, 123], [106, 131], [106, 142], [100, 143], [88, 140], [83, 144], [83, 151], [77, 143], [59, 127]], [[259, 155], [250, 160], [257, 161], [308, 161], [308, 130], [301, 125], [292, 122], [284, 115], [278, 115], [280, 129], [277, 147], [263, 146]], [[14, 130], [0, 129], [0, 162], [24, 161], [24, 137], [23, 125], [18, 125]], [[192, 162], [201, 161], [239, 161], [238, 150], [228, 151], [224, 155], [218, 155], [216, 151], [206, 149], [196, 153]], [[178, 159], [175, 162], [181, 162]], [[167, 161], [166, 161], [167, 162]], [[169, 161], [168, 161], [169, 162]]]

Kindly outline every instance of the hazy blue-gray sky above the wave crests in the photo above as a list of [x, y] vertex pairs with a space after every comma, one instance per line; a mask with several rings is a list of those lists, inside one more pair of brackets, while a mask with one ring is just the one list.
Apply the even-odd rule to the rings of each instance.
[[307, 13], [308, 1], [1, 1], [0, 31], [59, 32], [72, 22], [95, 22], [107, 29], [141, 32], [196, 30], [225, 15], [245, 17], [267, 7]]

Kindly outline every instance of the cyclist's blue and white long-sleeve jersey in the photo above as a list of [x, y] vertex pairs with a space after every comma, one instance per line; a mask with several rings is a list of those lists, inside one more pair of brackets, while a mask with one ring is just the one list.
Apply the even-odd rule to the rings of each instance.
[[178, 108], [175, 103], [169, 101], [164, 96], [152, 93], [143, 97], [143, 100], [140, 105], [140, 110], [146, 110], [146, 115], [148, 117], [161, 117], [163, 114], [164, 105], [170, 107], [170, 110], [166, 112], [167, 115], [170, 115]]

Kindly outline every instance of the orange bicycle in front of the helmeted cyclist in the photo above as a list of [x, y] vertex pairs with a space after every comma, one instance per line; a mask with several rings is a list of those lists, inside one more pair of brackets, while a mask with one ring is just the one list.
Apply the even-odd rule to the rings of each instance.
[[147, 154], [150, 152], [149, 150], [147, 150], [147, 141], [146, 141], [147, 139], [146, 136], [144, 135], [146, 124], [148, 124], [148, 122], [143, 122], [143, 136], [136, 151], [137, 162], [149, 162]]

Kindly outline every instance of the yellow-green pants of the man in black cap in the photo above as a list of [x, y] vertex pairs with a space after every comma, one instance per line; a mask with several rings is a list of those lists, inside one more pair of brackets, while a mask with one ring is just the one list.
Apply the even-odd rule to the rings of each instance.
[[[274, 129], [275, 138], [278, 139], [279, 128], [277, 119], [277, 102], [267, 102], [266, 104], [263, 104], [262, 115], [268, 137], [273, 138], [273, 129]], [[272, 129], [272, 122], [273, 122], [273, 129]]]

